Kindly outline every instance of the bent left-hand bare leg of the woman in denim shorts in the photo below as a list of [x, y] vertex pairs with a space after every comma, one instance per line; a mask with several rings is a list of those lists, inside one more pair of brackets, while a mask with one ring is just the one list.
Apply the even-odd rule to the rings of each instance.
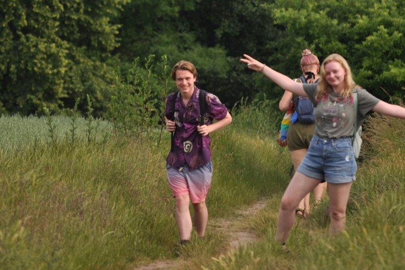
[[296, 172], [291, 179], [280, 203], [278, 213], [276, 240], [285, 243], [295, 220], [294, 210], [305, 195], [308, 194], [317, 184], [318, 179], [314, 179]]

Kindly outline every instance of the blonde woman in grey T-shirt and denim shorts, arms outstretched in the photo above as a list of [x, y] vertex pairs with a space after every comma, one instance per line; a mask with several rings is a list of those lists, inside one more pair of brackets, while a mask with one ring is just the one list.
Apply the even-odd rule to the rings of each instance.
[[341, 232], [350, 188], [356, 179], [354, 119], [357, 127], [371, 111], [405, 119], [405, 108], [384, 102], [356, 85], [349, 64], [339, 54], [331, 54], [323, 61], [318, 84], [294, 82], [249, 55], [244, 57], [240, 61], [247, 63], [248, 68], [262, 72], [284, 90], [307, 96], [316, 108], [315, 131], [308, 151], [280, 202], [276, 240], [285, 245], [294, 225], [295, 208], [322, 180], [328, 182], [329, 235]]

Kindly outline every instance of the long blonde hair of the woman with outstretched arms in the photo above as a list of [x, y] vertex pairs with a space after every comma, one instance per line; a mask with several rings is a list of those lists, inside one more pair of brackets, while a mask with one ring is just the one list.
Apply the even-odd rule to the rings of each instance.
[[341, 64], [343, 69], [346, 71], [346, 75], [344, 78], [344, 88], [340, 92], [342, 97], [348, 98], [353, 94], [352, 90], [360, 88], [356, 83], [353, 81], [350, 66], [347, 63], [346, 59], [344, 59], [341, 55], [339, 54], [331, 54], [329, 55], [322, 63], [320, 66], [320, 80], [316, 89], [316, 95], [315, 98], [324, 98], [326, 95], [330, 92], [332, 92], [332, 87], [330, 84], [328, 84], [326, 80], [326, 71], [325, 71], [325, 65], [330, 63], [330, 62], [337, 62]]

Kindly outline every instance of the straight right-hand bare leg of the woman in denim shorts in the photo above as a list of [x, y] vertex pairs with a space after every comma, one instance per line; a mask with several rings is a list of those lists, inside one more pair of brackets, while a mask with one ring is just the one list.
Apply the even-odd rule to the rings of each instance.
[[345, 184], [328, 183], [331, 210], [329, 235], [341, 232], [346, 222], [346, 207], [352, 182]]

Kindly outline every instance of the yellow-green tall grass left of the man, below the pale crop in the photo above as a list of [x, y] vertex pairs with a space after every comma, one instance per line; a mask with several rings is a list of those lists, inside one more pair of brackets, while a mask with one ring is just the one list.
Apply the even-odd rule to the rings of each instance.
[[172, 206], [164, 179], [154, 174], [164, 166], [146, 145], [38, 146], [0, 156], [0, 265], [115, 268], [171, 256], [161, 243], [175, 235]]

